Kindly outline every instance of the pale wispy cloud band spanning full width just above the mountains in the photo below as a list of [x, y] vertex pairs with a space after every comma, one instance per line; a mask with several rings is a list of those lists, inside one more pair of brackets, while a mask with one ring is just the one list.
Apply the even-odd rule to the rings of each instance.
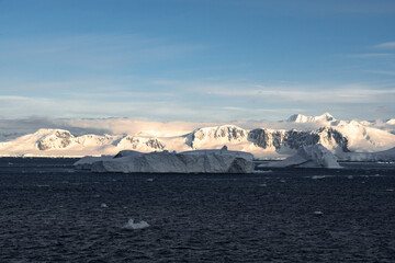
[[[0, 115], [49, 117], [131, 117], [149, 121], [229, 122], [282, 119], [294, 113], [352, 114], [387, 105], [395, 110], [395, 84], [262, 85], [223, 80], [146, 80], [147, 91], [115, 89], [64, 93], [63, 96], [2, 95]], [[57, 87], [63, 87], [58, 83]], [[362, 110], [361, 110], [362, 108]], [[374, 111], [371, 111], [374, 113]], [[387, 114], [388, 115], [388, 114]], [[345, 115], [340, 115], [343, 117]], [[392, 117], [392, 116], [390, 116]]]

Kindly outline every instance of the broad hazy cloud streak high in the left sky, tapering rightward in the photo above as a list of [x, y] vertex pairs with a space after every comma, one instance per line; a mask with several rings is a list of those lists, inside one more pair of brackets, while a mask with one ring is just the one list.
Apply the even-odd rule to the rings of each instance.
[[200, 43], [142, 35], [84, 34], [1, 39], [0, 50], [7, 53], [0, 52], [0, 58], [19, 66], [104, 70], [172, 60], [208, 48]]

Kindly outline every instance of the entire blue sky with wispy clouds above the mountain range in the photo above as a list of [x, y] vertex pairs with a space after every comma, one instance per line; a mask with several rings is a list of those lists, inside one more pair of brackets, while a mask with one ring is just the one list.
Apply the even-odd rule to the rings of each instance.
[[395, 117], [392, 0], [0, 0], [0, 117]]

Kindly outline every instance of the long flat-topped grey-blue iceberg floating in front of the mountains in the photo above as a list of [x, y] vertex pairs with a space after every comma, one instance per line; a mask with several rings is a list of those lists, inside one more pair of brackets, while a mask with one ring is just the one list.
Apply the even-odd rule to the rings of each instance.
[[[121, 152], [120, 152], [121, 153]], [[199, 150], [187, 152], [123, 151], [114, 158], [82, 158], [75, 163], [77, 169], [93, 172], [122, 173], [251, 173], [253, 156], [247, 152]]]

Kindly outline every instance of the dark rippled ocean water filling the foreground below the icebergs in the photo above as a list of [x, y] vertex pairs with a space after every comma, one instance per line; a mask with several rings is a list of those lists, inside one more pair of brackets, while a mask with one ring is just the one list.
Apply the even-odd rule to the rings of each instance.
[[185, 175], [74, 161], [0, 158], [0, 262], [395, 262], [395, 164]]

